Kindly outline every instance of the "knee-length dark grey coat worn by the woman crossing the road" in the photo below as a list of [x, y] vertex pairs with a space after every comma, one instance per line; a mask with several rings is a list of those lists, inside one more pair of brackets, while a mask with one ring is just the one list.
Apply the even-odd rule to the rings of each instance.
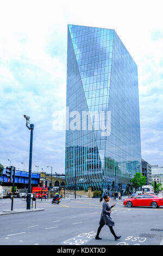
[[102, 213], [101, 213], [101, 218], [99, 221], [99, 224], [105, 224], [108, 226], [114, 226], [114, 221], [111, 220], [110, 217], [110, 210], [111, 210], [112, 206], [110, 207], [108, 203], [104, 202], [103, 203], [103, 209], [102, 209]]

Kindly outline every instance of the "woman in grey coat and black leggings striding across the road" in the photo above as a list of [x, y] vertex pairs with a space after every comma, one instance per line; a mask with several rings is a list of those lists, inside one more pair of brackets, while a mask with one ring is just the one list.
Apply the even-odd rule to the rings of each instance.
[[[97, 239], [97, 240], [102, 239], [102, 238], [99, 237], [99, 233], [100, 233], [102, 227], [104, 227], [104, 225], [108, 225], [108, 227], [110, 228], [111, 234], [114, 235], [115, 240], [118, 240], [118, 239], [121, 238], [121, 236], [117, 236], [115, 234], [115, 231], [112, 228], [112, 226], [114, 226], [114, 221], [112, 221], [112, 219], [110, 217], [111, 208], [114, 207], [115, 204], [113, 204], [110, 207], [109, 204], [107, 203], [107, 202], [109, 202], [109, 196], [107, 196], [105, 194], [103, 196], [103, 198], [104, 198], [103, 209], [102, 209], [101, 218], [100, 218], [100, 221], [99, 221], [99, 228], [97, 230], [97, 235], [96, 235], [95, 239]], [[100, 202], [102, 202], [103, 198], [101, 197]]]

